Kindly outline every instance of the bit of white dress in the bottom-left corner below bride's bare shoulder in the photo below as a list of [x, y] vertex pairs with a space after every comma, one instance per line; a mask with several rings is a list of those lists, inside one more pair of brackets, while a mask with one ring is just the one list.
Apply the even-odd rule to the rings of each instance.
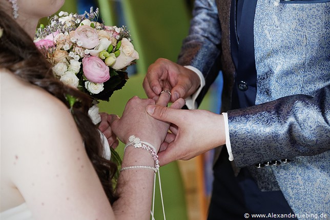
[[0, 213], [1, 220], [33, 220], [32, 212], [26, 205], [23, 203], [19, 206], [8, 209]]

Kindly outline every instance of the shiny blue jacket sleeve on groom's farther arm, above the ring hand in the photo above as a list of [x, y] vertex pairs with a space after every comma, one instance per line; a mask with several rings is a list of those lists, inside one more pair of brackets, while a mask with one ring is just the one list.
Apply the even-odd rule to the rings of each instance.
[[178, 64], [193, 66], [205, 78], [197, 103], [208, 91], [219, 73], [221, 28], [214, 0], [196, 0], [189, 35], [183, 40]]

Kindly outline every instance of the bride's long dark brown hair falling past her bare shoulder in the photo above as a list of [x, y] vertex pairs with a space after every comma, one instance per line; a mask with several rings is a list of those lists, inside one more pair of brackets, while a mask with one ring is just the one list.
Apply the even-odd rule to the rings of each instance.
[[72, 95], [80, 101], [73, 106], [72, 114], [86, 152], [112, 204], [117, 199], [112, 185], [117, 166], [102, 157], [100, 134], [88, 116], [91, 98], [59, 82], [53, 75], [51, 64], [39, 52], [31, 37], [5, 12], [3, 6], [0, 6], [0, 14], [0, 32], [3, 32], [0, 37], [0, 68], [5, 68], [23, 81], [46, 90], [68, 108], [70, 105], [66, 95]]

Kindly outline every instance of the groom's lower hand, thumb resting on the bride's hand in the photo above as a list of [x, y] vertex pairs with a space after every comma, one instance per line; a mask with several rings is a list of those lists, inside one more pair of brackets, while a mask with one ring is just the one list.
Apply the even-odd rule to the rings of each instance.
[[158, 153], [160, 166], [177, 159], [188, 160], [225, 144], [223, 116], [206, 110], [181, 110], [156, 105], [147, 112], [172, 127]]

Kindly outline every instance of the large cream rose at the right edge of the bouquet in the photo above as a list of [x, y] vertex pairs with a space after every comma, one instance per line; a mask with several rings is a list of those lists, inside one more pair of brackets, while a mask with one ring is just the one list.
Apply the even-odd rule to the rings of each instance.
[[134, 50], [133, 44], [127, 39], [122, 38], [119, 48], [120, 55], [116, 58], [116, 62], [112, 65], [115, 70], [120, 70], [131, 64], [132, 61], [139, 58], [139, 54]]

